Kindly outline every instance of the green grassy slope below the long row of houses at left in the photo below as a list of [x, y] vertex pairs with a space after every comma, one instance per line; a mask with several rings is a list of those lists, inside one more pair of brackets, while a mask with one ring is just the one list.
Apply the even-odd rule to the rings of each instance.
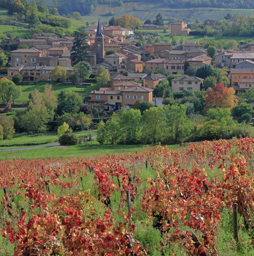
[[[28, 101], [28, 96], [31, 91], [39, 90], [39, 92], [44, 91], [44, 86], [46, 82], [39, 82], [36, 85], [21, 85], [22, 94], [21, 96], [15, 101]], [[92, 84], [87, 88], [76, 88], [75, 85], [63, 85], [61, 83], [52, 83], [52, 89], [54, 90], [54, 94], [57, 95], [60, 93], [61, 90], [71, 90], [77, 92], [81, 97], [85, 98], [86, 96], [90, 95], [92, 90], [98, 90], [98, 86], [96, 84]]]

